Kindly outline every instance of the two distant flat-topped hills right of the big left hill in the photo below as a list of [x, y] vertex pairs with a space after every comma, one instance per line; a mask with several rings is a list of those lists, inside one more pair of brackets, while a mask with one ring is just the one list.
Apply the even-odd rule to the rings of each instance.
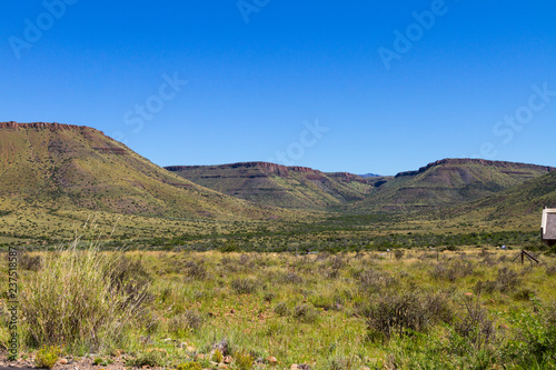
[[399, 212], [471, 202], [549, 173], [536, 164], [444, 159], [395, 177], [325, 173], [266, 162], [171, 166], [167, 170], [218, 192], [259, 204], [299, 209]]

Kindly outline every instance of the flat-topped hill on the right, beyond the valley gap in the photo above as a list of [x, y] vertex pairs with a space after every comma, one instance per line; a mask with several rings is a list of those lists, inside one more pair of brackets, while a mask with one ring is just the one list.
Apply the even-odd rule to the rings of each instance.
[[380, 180], [374, 191], [348, 209], [377, 212], [450, 207], [495, 194], [554, 170], [481, 159], [444, 159], [394, 178], [377, 178]]

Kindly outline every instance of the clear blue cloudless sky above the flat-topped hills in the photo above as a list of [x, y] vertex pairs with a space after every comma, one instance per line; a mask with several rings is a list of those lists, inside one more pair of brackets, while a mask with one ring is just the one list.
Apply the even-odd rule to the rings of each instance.
[[1, 2], [0, 120], [160, 166], [556, 166], [553, 0], [62, 1]]

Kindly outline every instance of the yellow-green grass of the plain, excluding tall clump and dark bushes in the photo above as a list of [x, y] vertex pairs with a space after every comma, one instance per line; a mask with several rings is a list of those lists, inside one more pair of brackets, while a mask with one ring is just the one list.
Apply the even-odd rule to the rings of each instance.
[[[438, 262], [437, 253], [429, 249], [405, 250], [400, 260], [390, 259], [387, 252], [295, 256], [131, 251], [126, 257], [140, 261], [151, 277], [152, 300], [126, 339], [110, 346], [133, 358], [163, 349], [167, 354], [158, 361], [170, 366], [189, 361], [197, 353], [210, 358], [212, 346], [225, 338], [232, 357], [235, 351], [251, 353], [256, 359], [276, 357], [280, 369], [292, 363], [308, 363], [315, 369], [386, 368], [393, 363], [413, 368], [415, 361], [425, 363], [426, 356], [435, 356], [438, 367], [444, 363], [450, 368], [453, 363], [455, 368], [458, 361], [475, 363], [479, 361], [477, 353], [496, 352], [497, 347], [506, 348], [509, 340], [519, 338], [523, 326], [512, 312], [536, 317], [535, 312], [554, 301], [556, 259], [543, 254], [542, 266], [522, 267], [512, 262], [515, 256], [515, 250], [494, 247], [446, 250], [439, 252]], [[502, 280], [500, 271], [506, 271]], [[21, 272], [26, 277], [36, 273]], [[507, 277], [514, 277], [515, 284], [504, 286]], [[490, 288], [478, 289], [489, 281]], [[386, 342], [371, 340], [366, 313], [369, 307], [409, 292], [424, 299], [444, 297], [454, 321], [435, 322], [427, 330], [395, 336]], [[466, 314], [466, 302], [488, 312], [496, 331], [496, 340], [475, 354], [456, 353], [450, 337], [458, 318]], [[6, 330], [2, 334], [6, 339]], [[101, 354], [109, 356], [115, 349], [110, 346]], [[446, 353], [438, 354], [440, 349]], [[489, 356], [488, 361], [498, 366], [519, 367], [518, 359]], [[206, 360], [198, 361], [205, 368], [216, 368]]]

